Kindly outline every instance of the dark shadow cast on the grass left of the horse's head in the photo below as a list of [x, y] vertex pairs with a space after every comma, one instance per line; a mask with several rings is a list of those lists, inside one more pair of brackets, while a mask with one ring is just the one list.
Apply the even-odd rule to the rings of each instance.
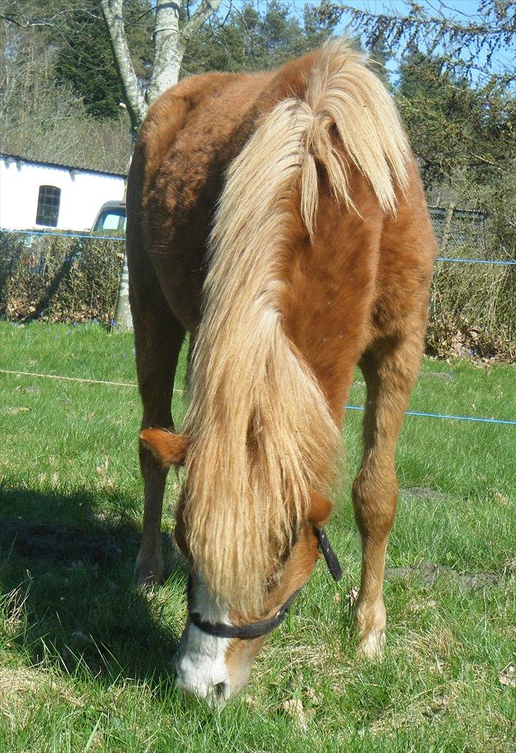
[[0, 487], [10, 515], [0, 520], [0, 594], [16, 628], [11, 648], [32, 663], [159, 687], [173, 675], [182, 620], [170, 596], [182, 602], [186, 566], [163, 535], [166, 589], [135, 591], [139, 529], [124, 514], [100, 514], [119, 507], [116, 492]]

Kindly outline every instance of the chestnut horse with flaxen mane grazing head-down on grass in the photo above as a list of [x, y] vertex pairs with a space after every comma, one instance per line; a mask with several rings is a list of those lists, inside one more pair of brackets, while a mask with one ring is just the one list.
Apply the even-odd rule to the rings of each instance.
[[[191, 615], [179, 685], [213, 700], [243, 687], [262, 633], [310, 577], [356, 364], [367, 385], [356, 626], [360, 651], [378, 654], [395, 445], [435, 258], [389, 93], [345, 41], [276, 72], [186, 78], [149, 109], [127, 215], [143, 403], [139, 584], [163, 576], [166, 473], [186, 465], [176, 539]], [[191, 402], [174, 434], [186, 331]]]

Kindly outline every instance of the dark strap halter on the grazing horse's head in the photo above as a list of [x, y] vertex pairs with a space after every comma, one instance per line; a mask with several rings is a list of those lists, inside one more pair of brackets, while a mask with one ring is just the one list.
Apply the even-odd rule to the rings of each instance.
[[[328, 541], [328, 536], [326, 535], [325, 529], [316, 528], [316, 526], [314, 526], [313, 532], [317, 537], [317, 541], [319, 541], [319, 549], [322, 551], [322, 554], [326, 560], [326, 564], [328, 565], [328, 570], [330, 571], [331, 577], [334, 579], [334, 581], [340, 581], [340, 578], [342, 578], [342, 568], [340, 567], [337, 555], [331, 548], [331, 544]], [[278, 611], [276, 611], [276, 614], [273, 614], [272, 617], [267, 617], [265, 620], [258, 620], [257, 622], [251, 622], [247, 625], [226, 625], [223, 622], [209, 622], [208, 620], [203, 620], [199, 612], [193, 610], [192, 577], [191, 575], [189, 575], [187, 586], [188, 615], [194, 625], [199, 628], [199, 630], [203, 630], [203, 633], [209, 633], [210, 636], [215, 636], [215, 638], [240, 638], [241, 640], [259, 638], [260, 636], [264, 636], [266, 633], [270, 633], [270, 631], [274, 630], [275, 627], [281, 625], [289, 612], [289, 608], [292, 605], [292, 602], [294, 601], [295, 597], [298, 596], [298, 593], [300, 591], [301, 588], [292, 593], [292, 595], [289, 596], [286, 602], [279, 607]]]

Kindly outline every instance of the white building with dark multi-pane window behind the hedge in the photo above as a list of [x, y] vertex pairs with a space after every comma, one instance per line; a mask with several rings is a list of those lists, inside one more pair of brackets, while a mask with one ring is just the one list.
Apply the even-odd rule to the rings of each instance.
[[102, 204], [124, 200], [126, 176], [0, 154], [0, 228], [91, 230]]

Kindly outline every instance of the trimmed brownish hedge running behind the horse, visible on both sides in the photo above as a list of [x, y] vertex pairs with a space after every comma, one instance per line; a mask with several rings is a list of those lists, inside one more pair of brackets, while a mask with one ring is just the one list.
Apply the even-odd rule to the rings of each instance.
[[[94, 233], [0, 231], [0, 316], [114, 323], [124, 244]], [[467, 242], [457, 257], [493, 255]], [[433, 355], [516, 356], [516, 267], [436, 262], [427, 350]]]

